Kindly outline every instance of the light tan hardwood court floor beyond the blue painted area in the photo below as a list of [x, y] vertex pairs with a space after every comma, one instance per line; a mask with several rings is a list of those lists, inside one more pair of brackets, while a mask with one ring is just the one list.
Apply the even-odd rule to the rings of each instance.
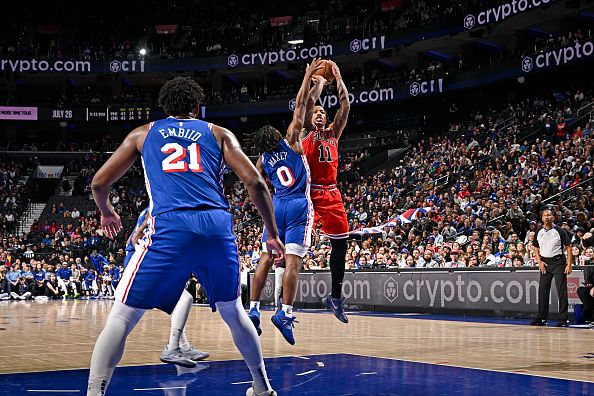
[[[111, 301], [0, 302], [0, 373], [89, 366]], [[297, 311], [297, 344], [287, 344], [262, 313], [265, 357], [327, 353], [411, 360], [431, 364], [594, 381], [594, 330]], [[193, 307], [187, 325], [192, 343], [209, 360], [240, 359], [218, 314]], [[145, 314], [128, 338], [121, 365], [160, 363], [169, 316]], [[594, 356], [594, 355], [592, 355]]]

